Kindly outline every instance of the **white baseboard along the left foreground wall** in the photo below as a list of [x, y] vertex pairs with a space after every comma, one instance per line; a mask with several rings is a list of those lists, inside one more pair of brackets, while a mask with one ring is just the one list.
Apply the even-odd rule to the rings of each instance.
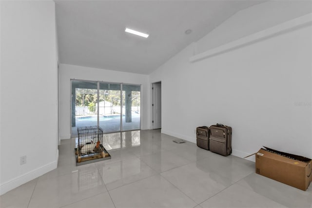
[[6, 192], [19, 187], [20, 185], [23, 185], [55, 168], [58, 166], [58, 158], [59, 158], [59, 150], [57, 151], [57, 160], [53, 161], [47, 165], [41, 166], [37, 169], [34, 169], [30, 172], [27, 172], [21, 176], [18, 176], [16, 178], [13, 178], [3, 184], [0, 184], [0, 195], [5, 194]]

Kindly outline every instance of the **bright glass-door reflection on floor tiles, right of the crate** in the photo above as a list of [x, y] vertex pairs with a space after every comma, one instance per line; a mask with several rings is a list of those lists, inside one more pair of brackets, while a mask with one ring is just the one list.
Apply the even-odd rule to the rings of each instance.
[[140, 146], [140, 131], [125, 131], [103, 135], [106, 150]]

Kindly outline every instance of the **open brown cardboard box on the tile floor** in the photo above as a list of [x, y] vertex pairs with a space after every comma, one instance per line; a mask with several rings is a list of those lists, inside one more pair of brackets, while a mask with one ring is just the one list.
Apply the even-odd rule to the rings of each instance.
[[312, 160], [268, 147], [255, 154], [256, 173], [301, 190], [312, 182]]

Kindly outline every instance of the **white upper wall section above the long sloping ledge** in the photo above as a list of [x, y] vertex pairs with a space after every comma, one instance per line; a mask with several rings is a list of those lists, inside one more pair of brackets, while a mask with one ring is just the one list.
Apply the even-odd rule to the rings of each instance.
[[312, 12], [310, 0], [273, 0], [237, 12], [196, 44], [198, 53]]

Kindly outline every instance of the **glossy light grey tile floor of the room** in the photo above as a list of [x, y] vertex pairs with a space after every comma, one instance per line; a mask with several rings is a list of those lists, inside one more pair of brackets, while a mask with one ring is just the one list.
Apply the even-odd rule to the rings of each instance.
[[0, 196], [0, 207], [312, 208], [311, 186], [255, 174], [248, 160], [176, 144], [160, 130], [107, 136], [104, 146], [122, 146], [111, 160], [76, 166], [76, 139], [62, 140], [58, 168]]

